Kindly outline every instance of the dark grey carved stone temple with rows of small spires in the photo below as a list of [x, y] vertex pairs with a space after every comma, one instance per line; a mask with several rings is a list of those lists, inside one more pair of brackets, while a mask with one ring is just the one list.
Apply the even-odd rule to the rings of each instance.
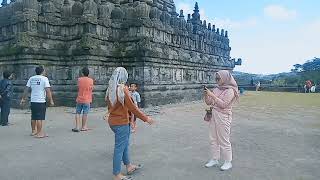
[[0, 7], [0, 72], [16, 74], [15, 103], [37, 65], [48, 72], [57, 105], [74, 106], [80, 69], [95, 79], [104, 106], [117, 66], [139, 84], [143, 104], [199, 99], [219, 69], [232, 70], [228, 32], [176, 12], [173, 0], [7, 0]]

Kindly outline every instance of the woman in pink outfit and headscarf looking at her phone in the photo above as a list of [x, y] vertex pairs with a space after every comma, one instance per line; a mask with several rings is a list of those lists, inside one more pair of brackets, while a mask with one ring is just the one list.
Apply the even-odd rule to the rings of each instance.
[[232, 121], [232, 106], [238, 101], [238, 85], [229, 71], [221, 70], [215, 74], [218, 87], [211, 92], [205, 89], [204, 99], [212, 107], [212, 118], [209, 121], [209, 138], [211, 159], [205, 167], [219, 164], [220, 153], [224, 164], [221, 170], [232, 168], [232, 149], [230, 143], [230, 128]]

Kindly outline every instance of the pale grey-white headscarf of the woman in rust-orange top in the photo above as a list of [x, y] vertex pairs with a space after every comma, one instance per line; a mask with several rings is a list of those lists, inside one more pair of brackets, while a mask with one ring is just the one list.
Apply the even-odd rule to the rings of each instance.
[[[124, 105], [124, 85], [128, 80], [128, 72], [123, 67], [117, 67], [109, 80], [109, 86], [106, 92], [111, 105], [115, 105], [117, 99]], [[118, 95], [118, 97], [117, 97]]]

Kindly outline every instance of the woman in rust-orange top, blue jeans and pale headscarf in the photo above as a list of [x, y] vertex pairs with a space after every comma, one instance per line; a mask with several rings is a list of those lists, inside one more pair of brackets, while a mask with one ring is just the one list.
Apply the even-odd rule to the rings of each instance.
[[131, 177], [120, 173], [121, 161], [126, 165], [128, 175], [141, 168], [141, 165], [131, 164], [129, 159], [129, 138], [131, 133], [129, 111], [150, 125], [154, 123], [153, 119], [141, 112], [132, 101], [129, 89], [125, 86], [127, 80], [127, 70], [123, 67], [116, 68], [109, 80], [105, 97], [109, 110], [108, 123], [115, 134], [113, 154], [114, 180], [132, 180]]

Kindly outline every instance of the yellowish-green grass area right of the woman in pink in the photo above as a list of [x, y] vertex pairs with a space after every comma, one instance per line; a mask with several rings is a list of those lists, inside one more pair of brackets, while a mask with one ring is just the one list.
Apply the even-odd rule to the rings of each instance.
[[235, 104], [234, 113], [239, 119], [320, 129], [320, 94], [247, 91]]

